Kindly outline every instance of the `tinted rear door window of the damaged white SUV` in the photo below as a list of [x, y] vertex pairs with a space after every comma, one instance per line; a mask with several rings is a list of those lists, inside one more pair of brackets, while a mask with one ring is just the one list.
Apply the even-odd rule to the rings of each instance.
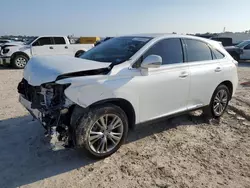
[[185, 39], [187, 44], [187, 60], [188, 62], [212, 60], [212, 53], [205, 42]]

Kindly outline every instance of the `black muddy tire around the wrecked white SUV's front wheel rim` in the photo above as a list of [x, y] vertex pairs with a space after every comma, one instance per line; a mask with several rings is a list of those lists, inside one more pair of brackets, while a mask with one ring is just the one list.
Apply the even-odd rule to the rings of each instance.
[[[114, 116], [119, 117], [120, 118], [119, 121], [121, 120], [120, 122], [122, 123], [121, 126], [123, 126], [123, 128], [122, 128], [123, 132], [119, 133], [121, 136], [120, 136], [120, 140], [117, 141], [117, 145], [115, 145], [114, 143], [111, 142], [109, 135], [105, 135], [105, 140], [107, 143], [106, 149], [105, 149], [106, 152], [100, 153], [100, 152], [97, 152], [99, 149], [96, 149], [97, 151], [94, 151], [95, 150], [94, 144], [96, 144], [97, 148], [98, 148], [98, 146], [101, 145], [101, 142], [103, 141], [104, 136], [102, 136], [102, 138], [99, 138], [99, 140], [97, 140], [97, 141], [93, 141], [94, 144], [91, 144], [90, 143], [91, 142], [90, 131], [91, 130], [93, 131], [93, 129], [96, 128], [95, 127], [96, 122], [99, 121], [99, 119], [101, 117], [103, 117], [104, 115], [114, 115]], [[107, 118], [107, 119], [109, 119], [109, 118]], [[107, 120], [107, 122], [108, 122], [108, 120]], [[110, 132], [112, 133], [113, 130], [115, 130], [115, 129], [112, 129]], [[109, 134], [109, 133], [106, 133], [106, 134]], [[88, 151], [88, 153], [91, 154], [91, 156], [95, 157], [95, 158], [105, 158], [105, 157], [112, 155], [125, 142], [125, 140], [127, 138], [127, 134], [128, 134], [128, 118], [127, 118], [125, 112], [120, 107], [113, 105], [113, 104], [103, 104], [103, 105], [99, 105], [99, 106], [91, 108], [77, 122], [76, 131], [75, 131], [77, 146], [80, 146], [80, 147], [84, 146], [85, 149]], [[110, 150], [108, 150], [108, 143], [111, 145], [114, 144], [113, 148], [111, 147], [112, 149], [110, 149]], [[105, 147], [105, 146], [103, 146], [103, 147]]]

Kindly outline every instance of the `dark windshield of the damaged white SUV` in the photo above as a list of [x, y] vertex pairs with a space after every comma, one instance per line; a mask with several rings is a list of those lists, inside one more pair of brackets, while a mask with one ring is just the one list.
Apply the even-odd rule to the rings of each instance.
[[85, 52], [80, 58], [116, 65], [127, 61], [151, 39], [150, 37], [112, 38]]

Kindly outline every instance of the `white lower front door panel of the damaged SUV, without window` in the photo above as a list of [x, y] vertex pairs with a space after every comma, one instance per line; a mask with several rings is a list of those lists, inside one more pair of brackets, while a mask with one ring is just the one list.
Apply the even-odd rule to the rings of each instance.
[[141, 76], [140, 118], [142, 121], [187, 110], [190, 74], [188, 65], [152, 68]]

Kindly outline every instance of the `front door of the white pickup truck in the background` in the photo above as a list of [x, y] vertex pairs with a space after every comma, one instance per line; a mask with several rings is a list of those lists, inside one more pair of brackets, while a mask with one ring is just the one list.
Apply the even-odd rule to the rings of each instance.
[[54, 55], [54, 44], [51, 37], [41, 37], [32, 44], [31, 53], [33, 56]]

